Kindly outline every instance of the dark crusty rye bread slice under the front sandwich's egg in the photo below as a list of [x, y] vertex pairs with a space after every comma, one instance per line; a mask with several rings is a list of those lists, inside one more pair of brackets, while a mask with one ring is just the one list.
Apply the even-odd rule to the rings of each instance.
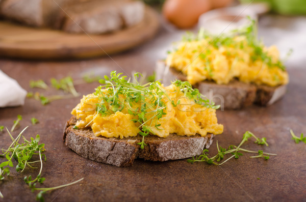
[[137, 142], [142, 136], [129, 138], [106, 138], [94, 136], [91, 128], [73, 129], [77, 118], [71, 117], [64, 129], [64, 141], [80, 156], [118, 167], [131, 166], [136, 158], [151, 161], [167, 161], [193, 157], [202, 154], [213, 142], [213, 134], [205, 137], [179, 136], [170, 134], [168, 137], [148, 135], [145, 137], [147, 146], [140, 149]]

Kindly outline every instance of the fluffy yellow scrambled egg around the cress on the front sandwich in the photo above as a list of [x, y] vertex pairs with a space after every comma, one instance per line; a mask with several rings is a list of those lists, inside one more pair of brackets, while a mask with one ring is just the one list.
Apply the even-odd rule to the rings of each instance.
[[[168, 98], [161, 98], [166, 104], [166, 108], [163, 109], [166, 114], [163, 114], [160, 119], [154, 116], [154, 112], [150, 113], [155, 108], [151, 107], [146, 112], [149, 121], [145, 126], [150, 127], [152, 134], [160, 137], [167, 137], [170, 133], [182, 136], [195, 134], [206, 136], [207, 133], [220, 134], [223, 132], [223, 125], [217, 123], [216, 109], [206, 108], [194, 103], [186, 98], [184, 93], [173, 84], [161, 87], [175, 103], [178, 100], [181, 101], [174, 107]], [[106, 90], [102, 92], [106, 93]], [[75, 126], [78, 128], [90, 126], [95, 136], [123, 138], [138, 135], [141, 131], [140, 123], [131, 121], [137, 118], [129, 113], [128, 107], [124, 107], [127, 103], [124, 103], [126, 101], [123, 97], [121, 98], [123, 107], [120, 110], [101, 116], [96, 110], [97, 104], [101, 101], [99, 96], [94, 94], [83, 96], [81, 102], [71, 111], [71, 114], [79, 119]], [[138, 110], [141, 107], [140, 105], [141, 102], [132, 104], [135, 110]], [[108, 109], [111, 108], [111, 106], [107, 107]]]

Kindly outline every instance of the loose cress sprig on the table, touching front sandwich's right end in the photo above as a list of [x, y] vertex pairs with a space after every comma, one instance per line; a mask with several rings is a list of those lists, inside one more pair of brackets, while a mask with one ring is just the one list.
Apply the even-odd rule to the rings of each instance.
[[[256, 141], [254, 141], [254, 143], [257, 143], [259, 145], [268, 146], [268, 144], [266, 142], [266, 138], [259, 139], [257, 136], [255, 136], [250, 131], [246, 131], [243, 134], [242, 141], [239, 143], [238, 146], [231, 145], [230, 147], [228, 147], [228, 149], [225, 149], [225, 148], [222, 148], [221, 146], [219, 146], [218, 141], [217, 141], [217, 149], [218, 149], [218, 154], [217, 155], [210, 158], [208, 156], [209, 150], [205, 149], [205, 150], [203, 150], [201, 155], [192, 157], [192, 159], [188, 159], [187, 162], [189, 162], [189, 163], [207, 162], [208, 164], [222, 165], [223, 163], [225, 163], [226, 161], [228, 161], [232, 158], [238, 159], [240, 156], [243, 156], [243, 154], [241, 152], [258, 153], [257, 156], [251, 156], [250, 158], [261, 158], [262, 157], [266, 160], [268, 160], [271, 155], [276, 155], [276, 154], [270, 154], [270, 153], [263, 152], [262, 150], [251, 151], [251, 150], [246, 150], [246, 149], [241, 148], [243, 143], [246, 142], [250, 137], [253, 137], [254, 139], [256, 139]], [[227, 155], [227, 154], [231, 154], [232, 156], [227, 158], [223, 162], [219, 163], [219, 161], [224, 159], [225, 155]]]

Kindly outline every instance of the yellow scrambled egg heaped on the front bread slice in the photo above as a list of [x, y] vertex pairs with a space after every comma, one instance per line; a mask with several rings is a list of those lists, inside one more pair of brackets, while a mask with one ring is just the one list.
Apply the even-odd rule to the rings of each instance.
[[[159, 85], [158, 88], [163, 92], [163, 96], [156, 95], [153, 99], [161, 101], [160, 105], [155, 101], [151, 102], [152, 99], [148, 96], [131, 101], [125, 95], [117, 94], [120, 106], [114, 108], [112, 102], [105, 102], [111, 93], [116, 94], [112, 88], [83, 96], [81, 102], [71, 111], [71, 114], [79, 119], [75, 126], [91, 127], [95, 136], [117, 138], [136, 136], [144, 127], [149, 128], [150, 134], [159, 137], [167, 137], [171, 133], [206, 136], [208, 133], [223, 132], [223, 125], [217, 123], [216, 109], [195, 103], [174, 84], [167, 87]], [[133, 93], [130, 95], [133, 97]], [[146, 121], [142, 123], [137, 120], [140, 119], [143, 108]]]

